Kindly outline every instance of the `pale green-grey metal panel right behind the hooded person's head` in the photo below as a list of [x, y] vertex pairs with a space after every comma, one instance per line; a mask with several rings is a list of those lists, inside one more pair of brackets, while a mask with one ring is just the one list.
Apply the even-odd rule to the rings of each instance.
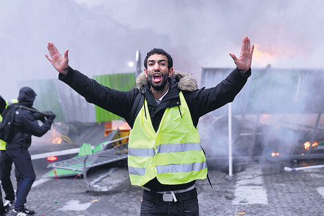
[[57, 115], [54, 121], [64, 121], [54, 79], [20, 81], [19, 86], [28, 86], [36, 92], [34, 108], [37, 108], [39, 111], [51, 110]]

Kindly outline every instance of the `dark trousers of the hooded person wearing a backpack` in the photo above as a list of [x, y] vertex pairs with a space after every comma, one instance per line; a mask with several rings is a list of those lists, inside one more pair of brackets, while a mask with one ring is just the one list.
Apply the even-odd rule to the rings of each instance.
[[15, 210], [22, 210], [23, 204], [26, 203], [26, 197], [32, 187], [32, 183], [36, 179], [34, 168], [32, 166], [32, 159], [27, 148], [7, 149], [9, 157], [14, 162], [19, 173], [21, 173], [21, 180], [17, 186], [17, 201], [14, 205]]

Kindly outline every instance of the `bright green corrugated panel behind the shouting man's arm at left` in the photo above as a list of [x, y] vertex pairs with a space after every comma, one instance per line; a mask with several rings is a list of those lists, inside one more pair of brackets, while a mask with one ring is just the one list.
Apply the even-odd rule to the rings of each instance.
[[[116, 74], [116, 75], [99, 75], [94, 76], [94, 80], [98, 81], [99, 84], [103, 86], [107, 86], [109, 88], [114, 88], [121, 91], [127, 91], [131, 88], [135, 87], [135, 74], [132, 73], [124, 73], [124, 74]], [[96, 106], [96, 121], [112, 121], [117, 119], [122, 119], [121, 117]]]

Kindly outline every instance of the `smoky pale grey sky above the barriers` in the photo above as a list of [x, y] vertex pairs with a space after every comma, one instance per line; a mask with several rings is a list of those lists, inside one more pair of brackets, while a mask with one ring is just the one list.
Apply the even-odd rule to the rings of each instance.
[[[90, 3], [89, 3], [90, 2]], [[85, 75], [131, 72], [164, 48], [174, 68], [200, 78], [201, 67], [233, 67], [241, 39], [256, 43], [253, 66], [324, 68], [323, 1], [3, 0], [0, 7], [1, 87], [17, 97], [19, 80], [55, 79], [46, 43], [70, 50]]]

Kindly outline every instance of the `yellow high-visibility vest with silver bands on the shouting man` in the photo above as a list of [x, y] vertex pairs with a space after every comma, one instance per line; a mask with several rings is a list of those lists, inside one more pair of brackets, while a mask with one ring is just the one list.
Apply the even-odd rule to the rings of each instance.
[[130, 130], [128, 171], [132, 185], [143, 186], [154, 177], [161, 184], [172, 185], [207, 177], [198, 131], [182, 92], [179, 97], [179, 106], [165, 109], [156, 132], [144, 101]]

